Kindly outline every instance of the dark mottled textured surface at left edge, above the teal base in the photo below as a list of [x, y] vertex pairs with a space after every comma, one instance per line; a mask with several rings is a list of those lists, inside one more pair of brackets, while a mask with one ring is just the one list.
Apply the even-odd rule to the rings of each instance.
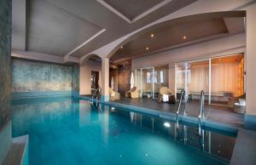
[[11, 3], [0, 0], [0, 130], [10, 118]]

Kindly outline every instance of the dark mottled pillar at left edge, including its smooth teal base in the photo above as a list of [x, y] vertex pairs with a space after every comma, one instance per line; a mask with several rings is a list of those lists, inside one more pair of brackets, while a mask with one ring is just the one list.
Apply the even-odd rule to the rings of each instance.
[[12, 137], [10, 122], [12, 1], [0, 1], [0, 164]]

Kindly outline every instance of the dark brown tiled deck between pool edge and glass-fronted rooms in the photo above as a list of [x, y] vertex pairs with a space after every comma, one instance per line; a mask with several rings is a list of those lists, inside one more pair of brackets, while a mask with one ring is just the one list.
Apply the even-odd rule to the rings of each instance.
[[[121, 100], [116, 100], [115, 102], [125, 105], [137, 105], [140, 107], [155, 109], [158, 111], [168, 111], [174, 113], [176, 113], [178, 105], [178, 102], [176, 104], [159, 103], [157, 100], [152, 100], [148, 98], [121, 98]], [[188, 116], [198, 117], [199, 101], [189, 100], [189, 102], [183, 103], [183, 106], [185, 106], [185, 110]], [[183, 113], [183, 111], [181, 111], [181, 113]], [[239, 128], [242, 128], [244, 125], [244, 115], [235, 113], [232, 109], [230, 109], [230, 107], [226, 105], [205, 105], [205, 117], [207, 120], [229, 123]]]

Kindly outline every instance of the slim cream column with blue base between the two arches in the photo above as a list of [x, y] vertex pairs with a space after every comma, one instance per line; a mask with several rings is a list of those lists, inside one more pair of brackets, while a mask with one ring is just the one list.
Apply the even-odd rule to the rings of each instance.
[[102, 101], [109, 101], [109, 59], [102, 59]]

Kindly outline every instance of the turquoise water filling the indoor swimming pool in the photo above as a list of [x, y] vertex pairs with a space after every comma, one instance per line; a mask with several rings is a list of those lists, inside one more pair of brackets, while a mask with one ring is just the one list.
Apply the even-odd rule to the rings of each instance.
[[12, 124], [14, 137], [29, 134], [30, 165], [228, 164], [236, 140], [71, 98], [15, 100]]

